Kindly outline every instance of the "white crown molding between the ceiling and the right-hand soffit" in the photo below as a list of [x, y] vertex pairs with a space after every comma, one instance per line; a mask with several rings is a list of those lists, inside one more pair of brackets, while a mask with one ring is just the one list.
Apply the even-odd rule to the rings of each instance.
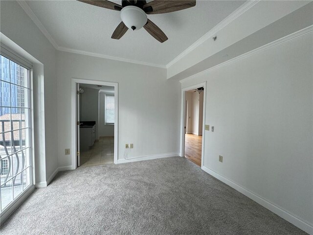
[[235, 19], [237, 19], [239, 16], [244, 14], [247, 10], [249, 10], [252, 6], [257, 4], [260, 0], [248, 0], [244, 4], [242, 4], [239, 8], [237, 8], [234, 12], [232, 12], [229, 16], [227, 16], [223, 21], [221, 21], [219, 24], [215, 25], [210, 31], [205, 33], [200, 39], [198, 39], [195, 43], [193, 43], [190, 47], [185, 49], [183, 52], [181, 52], [177, 57], [175, 57], [172, 61], [170, 61], [166, 68], [171, 67], [176, 62], [178, 62], [181, 58], [183, 58], [185, 55], [187, 55], [189, 52], [194, 50], [196, 47], [200, 46], [202, 43], [204, 43], [206, 40], [211, 39], [212, 37], [216, 36], [217, 32], [220, 31], [222, 28], [224, 28], [226, 25], [233, 22]]

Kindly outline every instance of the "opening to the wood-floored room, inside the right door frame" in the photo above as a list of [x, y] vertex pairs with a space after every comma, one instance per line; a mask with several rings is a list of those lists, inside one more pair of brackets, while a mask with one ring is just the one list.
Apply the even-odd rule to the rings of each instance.
[[185, 91], [184, 156], [201, 166], [204, 87]]

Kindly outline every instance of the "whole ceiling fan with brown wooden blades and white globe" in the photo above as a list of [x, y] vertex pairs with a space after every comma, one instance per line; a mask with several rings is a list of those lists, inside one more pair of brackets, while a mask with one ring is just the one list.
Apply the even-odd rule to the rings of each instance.
[[111, 38], [120, 39], [131, 28], [142, 27], [157, 41], [164, 43], [168, 38], [163, 31], [147, 18], [147, 14], [161, 14], [180, 11], [196, 5], [196, 0], [122, 0], [122, 5], [107, 0], [78, 0], [91, 5], [120, 11], [122, 22], [117, 25]]

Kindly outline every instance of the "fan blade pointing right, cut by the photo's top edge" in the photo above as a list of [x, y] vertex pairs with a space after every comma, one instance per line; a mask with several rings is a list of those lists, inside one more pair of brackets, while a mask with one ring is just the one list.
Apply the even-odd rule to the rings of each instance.
[[196, 5], [196, 0], [154, 0], [143, 6], [147, 14], [161, 14], [180, 11]]

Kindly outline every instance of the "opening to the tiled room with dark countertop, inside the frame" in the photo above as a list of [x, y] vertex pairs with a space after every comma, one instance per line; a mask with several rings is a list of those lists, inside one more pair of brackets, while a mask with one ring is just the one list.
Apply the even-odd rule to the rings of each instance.
[[78, 166], [113, 164], [114, 87], [78, 84]]

